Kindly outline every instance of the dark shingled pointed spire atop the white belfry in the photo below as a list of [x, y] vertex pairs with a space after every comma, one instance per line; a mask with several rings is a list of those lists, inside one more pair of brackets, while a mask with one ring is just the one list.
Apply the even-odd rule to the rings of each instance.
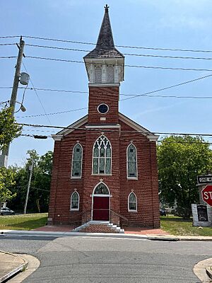
[[98, 36], [98, 42], [95, 46], [95, 49], [88, 53], [85, 58], [107, 58], [107, 57], [124, 57], [114, 47], [114, 41], [112, 37], [112, 28], [110, 25], [110, 17], [108, 13], [109, 6], [105, 6], [105, 15], [102, 20], [102, 25], [100, 28], [100, 33]]

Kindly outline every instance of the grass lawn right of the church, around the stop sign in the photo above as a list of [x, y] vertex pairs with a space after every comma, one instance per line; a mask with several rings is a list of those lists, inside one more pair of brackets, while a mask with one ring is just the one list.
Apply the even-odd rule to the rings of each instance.
[[192, 226], [192, 218], [184, 220], [180, 217], [169, 215], [160, 217], [160, 228], [172, 235], [178, 236], [212, 236], [212, 227]]

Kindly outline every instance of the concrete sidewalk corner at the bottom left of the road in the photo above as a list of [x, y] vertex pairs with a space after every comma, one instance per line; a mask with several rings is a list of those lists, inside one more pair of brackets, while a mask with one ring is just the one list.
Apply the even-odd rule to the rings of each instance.
[[0, 251], [0, 282], [16, 275], [16, 273], [25, 270], [28, 262], [18, 255]]

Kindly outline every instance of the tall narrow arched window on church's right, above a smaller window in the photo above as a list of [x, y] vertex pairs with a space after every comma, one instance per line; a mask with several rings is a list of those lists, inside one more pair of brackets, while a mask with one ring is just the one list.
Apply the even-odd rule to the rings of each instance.
[[127, 178], [137, 178], [137, 151], [134, 144], [130, 144], [126, 149], [126, 169]]

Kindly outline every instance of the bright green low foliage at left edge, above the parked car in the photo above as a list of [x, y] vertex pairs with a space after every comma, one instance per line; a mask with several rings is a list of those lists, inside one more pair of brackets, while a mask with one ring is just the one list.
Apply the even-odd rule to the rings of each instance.
[[11, 169], [0, 168], [0, 207], [1, 205], [16, 197], [16, 193], [11, 192], [11, 187], [15, 184], [15, 174]]

